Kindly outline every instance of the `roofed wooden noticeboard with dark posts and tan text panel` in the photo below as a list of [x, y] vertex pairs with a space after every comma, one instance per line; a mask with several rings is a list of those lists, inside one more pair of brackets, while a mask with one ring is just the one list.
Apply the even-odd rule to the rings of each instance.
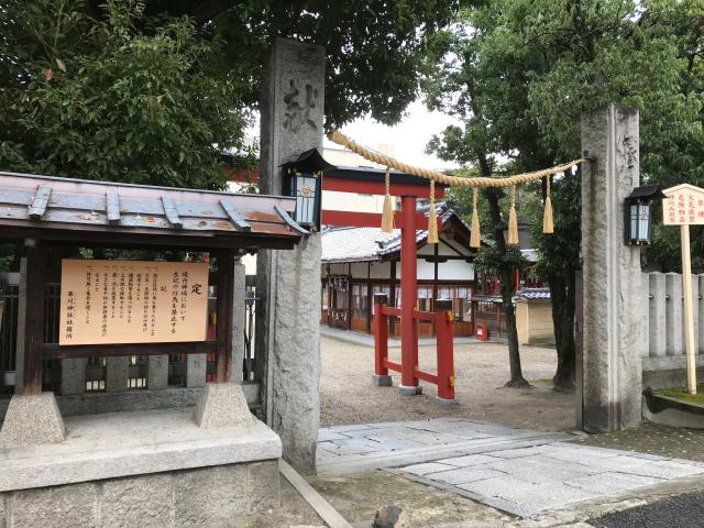
[[[22, 394], [41, 394], [46, 359], [169, 354], [176, 342], [182, 343], [179, 353], [212, 353], [216, 382], [229, 382], [235, 260], [261, 249], [290, 250], [305, 243], [309, 232], [292, 219], [295, 208], [295, 198], [284, 196], [0, 172], [0, 241], [22, 244], [24, 254], [26, 288], [20, 294], [19, 315], [24, 327], [18, 336], [23, 345]], [[46, 342], [45, 284], [54, 267], [50, 258], [68, 249], [76, 254], [78, 249], [105, 248], [207, 252], [215, 257], [218, 270], [210, 278], [220, 316], [215, 339], [206, 337], [207, 265], [66, 261], [59, 342]]]

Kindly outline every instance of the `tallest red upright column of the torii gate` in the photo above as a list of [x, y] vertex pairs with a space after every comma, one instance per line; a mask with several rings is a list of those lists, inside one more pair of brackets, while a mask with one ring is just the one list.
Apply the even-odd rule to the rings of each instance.
[[404, 227], [400, 234], [400, 385], [402, 394], [419, 394], [418, 321], [414, 319], [418, 284], [416, 275], [416, 197], [402, 197]]

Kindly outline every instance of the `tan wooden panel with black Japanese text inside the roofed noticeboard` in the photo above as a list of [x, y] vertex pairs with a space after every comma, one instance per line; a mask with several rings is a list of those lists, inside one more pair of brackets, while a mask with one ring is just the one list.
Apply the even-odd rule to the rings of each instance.
[[208, 264], [62, 261], [59, 345], [205, 341]]

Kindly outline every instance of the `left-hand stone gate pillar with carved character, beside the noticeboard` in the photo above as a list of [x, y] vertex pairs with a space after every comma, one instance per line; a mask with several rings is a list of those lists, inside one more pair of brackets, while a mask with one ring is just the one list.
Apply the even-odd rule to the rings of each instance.
[[[277, 38], [261, 105], [261, 193], [282, 194], [282, 169], [322, 152], [324, 48]], [[302, 246], [305, 245], [305, 248]], [[294, 251], [261, 251], [256, 263], [257, 378], [267, 425], [284, 458], [314, 473], [320, 420], [320, 234]]]

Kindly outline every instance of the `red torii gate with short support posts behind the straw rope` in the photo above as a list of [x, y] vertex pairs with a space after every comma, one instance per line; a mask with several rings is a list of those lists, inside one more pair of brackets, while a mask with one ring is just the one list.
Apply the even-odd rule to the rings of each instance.
[[[322, 190], [354, 193], [367, 195], [386, 194], [384, 170], [361, 168], [353, 173], [326, 170], [322, 178]], [[416, 309], [418, 297], [416, 230], [427, 229], [428, 218], [416, 210], [418, 198], [429, 198], [429, 183], [417, 176], [391, 172], [391, 196], [402, 198], [402, 208], [394, 213], [394, 227], [400, 229], [400, 308], [387, 306], [386, 294], [374, 296], [374, 380], [377, 385], [391, 385], [388, 371], [400, 372], [402, 394], [421, 393], [418, 381], [424, 380], [438, 386], [438, 399], [443, 403], [455, 403], [454, 366], [452, 344], [452, 301], [435, 299], [436, 311]], [[446, 186], [436, 184], [436, 198], [444, 196]], [[359, 228], [378, 228], [382, 224], [381, 213], [355, 211], [321, 211], [324, 226], [342, 226]], [[440, 229], [440, 219], [438, 219]], [[388, 361], [388, 316], [400, 317], [402, 362]], [[438, 342], [438, 372], [430, 374], [418, 367], [418, 320], [436, 323]]]

